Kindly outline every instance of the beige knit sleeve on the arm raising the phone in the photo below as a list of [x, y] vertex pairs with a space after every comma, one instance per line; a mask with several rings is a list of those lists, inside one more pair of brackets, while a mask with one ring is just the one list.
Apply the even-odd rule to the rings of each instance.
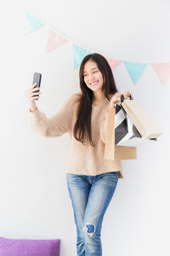
[[71, 95], [59, 109], [59, 112], [55, 113], [51, 118], [48, 118], [38, 108], [33, 113], [29, 112], [32, 130], [43, 137], [59, 137], [70, 131], [75, 96], [75, 94]]

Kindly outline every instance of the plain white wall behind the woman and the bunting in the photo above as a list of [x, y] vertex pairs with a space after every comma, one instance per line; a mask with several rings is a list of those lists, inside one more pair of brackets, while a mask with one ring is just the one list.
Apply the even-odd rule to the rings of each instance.
[[[8, 9], [10, 6], [10, 9]], [[1, 9], [0, 236], [61, 239], [60, 253], [76, 255], [76, 226], [65, 179], [68, 134], [41, 137], [31, 130], [26, 90], [42, 73], [37, 106], [48, 116], [79, 90], [71, 43], [46, 54], [48, 28], [22, 36], [32, 9], [75, 44], [137, 62], [170, 61], [168, 1], [10, 1]], [[10, 19], [9, 19], [10, 18]], [[124, 179], [105, 213], [105, 256], [169, 255], [169, 95], [147, 66], [133, 85], [123, 62], [113, 72], [118, 90], [130, 90], [161, 125], [163, 135], [122, 161]]]

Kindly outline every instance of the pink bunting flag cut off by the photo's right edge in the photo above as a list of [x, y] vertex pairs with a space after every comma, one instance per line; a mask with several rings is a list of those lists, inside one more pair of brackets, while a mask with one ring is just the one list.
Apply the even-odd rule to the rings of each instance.
[[152, 63], [151, 65], [161, 79], [162, 84], [166, 84], [168, 76], [170, 75], [170, 63]]

